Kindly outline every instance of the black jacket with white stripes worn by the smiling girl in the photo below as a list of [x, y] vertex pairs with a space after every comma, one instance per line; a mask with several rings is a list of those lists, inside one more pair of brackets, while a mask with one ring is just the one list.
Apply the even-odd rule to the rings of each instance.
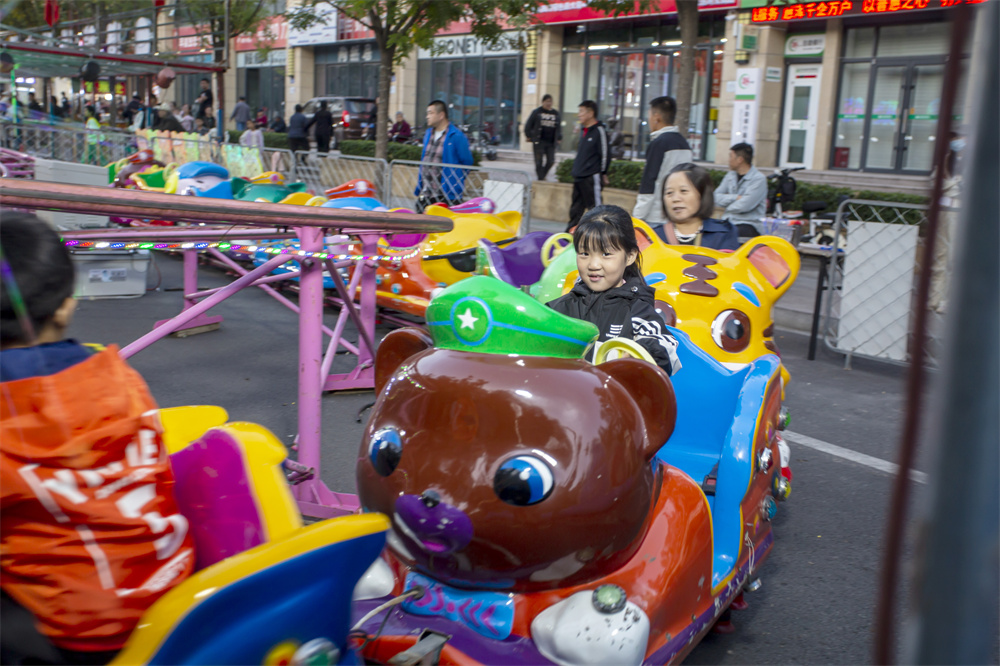
[[628, 338], [649, 352], [668, 375], [680, 370], [677, 340], [670, 335], [654, 308], [655, 290], [642, 278], [629, 278], [620, 287], [591, 291], [577, 280], [572, 291], [549, 302], [549, 307], [597, 326], [598, 342]]

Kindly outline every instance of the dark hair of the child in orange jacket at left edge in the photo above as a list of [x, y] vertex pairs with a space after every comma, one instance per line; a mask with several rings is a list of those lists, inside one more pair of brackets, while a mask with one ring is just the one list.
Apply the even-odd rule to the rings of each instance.
[[20, 293], [37, 334], [73, 295], [73, 261], [59, 234], [37, 216], [4, 209], [0, 218], [0, 255], [6, 264], [0, 269], [0, 344], [30, 344], [11, 292]]

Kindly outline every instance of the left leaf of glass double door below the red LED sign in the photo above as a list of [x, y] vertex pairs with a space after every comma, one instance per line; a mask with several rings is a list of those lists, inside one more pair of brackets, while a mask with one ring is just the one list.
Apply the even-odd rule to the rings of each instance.
[[895, 65], [875, 68], [872, 101], [868, 112], [866, 169], [898, 168], [906, 70], [905, 66]]

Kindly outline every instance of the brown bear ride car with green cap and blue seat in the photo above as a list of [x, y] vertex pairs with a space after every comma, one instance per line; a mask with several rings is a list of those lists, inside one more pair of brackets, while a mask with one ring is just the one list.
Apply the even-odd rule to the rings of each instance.
[[458, 663], [682, 659], [773, 543], [777, 467], [757, 461], [778, 455], [777, 358], [729, 370], [676, 331], [675, 378], [592, 365], [593, 325], [486, 276], [438, 294], [427, 321], [379, 346], [356, 464], [361, 505], [392, 516], [391, 594], [425, 597], [366, 620], [381, 647], [365, 656], [428, 628]]

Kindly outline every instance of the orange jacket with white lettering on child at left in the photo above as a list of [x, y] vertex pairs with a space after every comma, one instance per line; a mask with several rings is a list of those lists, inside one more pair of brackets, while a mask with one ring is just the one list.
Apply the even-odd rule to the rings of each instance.
[[116, 347], [0, 383], [0, 586], [61, 648], [121, 648], [194, 566], [155, 410]]

